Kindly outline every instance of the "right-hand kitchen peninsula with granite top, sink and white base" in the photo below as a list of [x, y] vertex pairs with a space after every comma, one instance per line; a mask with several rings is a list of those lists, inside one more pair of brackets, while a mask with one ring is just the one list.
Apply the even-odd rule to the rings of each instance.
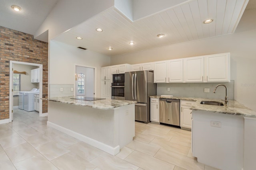
[[[256, 112], [229, 100], [228, 106], [201, 104], [201, 101], [222, 102], [189, 97], [150, 96], [193, 102], [192, 153], [197, 161], [222, 170], [255, 169]], [[191, 112], [190, 112], [191, 113]]]

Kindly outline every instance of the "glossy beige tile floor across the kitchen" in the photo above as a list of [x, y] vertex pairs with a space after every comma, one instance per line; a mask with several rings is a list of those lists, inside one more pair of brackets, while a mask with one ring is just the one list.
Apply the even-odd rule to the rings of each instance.
[[14, 121], [0, 125], [0, 170], [216, 170], [192, 156], [190, 131], [136, 122], [134, 141], [112, 156], [46, 122], [14, 109]]

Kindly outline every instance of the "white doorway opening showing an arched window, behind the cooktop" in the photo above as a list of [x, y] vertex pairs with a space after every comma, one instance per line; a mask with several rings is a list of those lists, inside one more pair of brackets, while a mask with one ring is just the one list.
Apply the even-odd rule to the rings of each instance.
[[96, 72], [95, 67], [92, 66], [75, 66], [76, 83], [75, 83], [75, 95], [86, 96], [94, 98], [95, 85], [96, 85]]

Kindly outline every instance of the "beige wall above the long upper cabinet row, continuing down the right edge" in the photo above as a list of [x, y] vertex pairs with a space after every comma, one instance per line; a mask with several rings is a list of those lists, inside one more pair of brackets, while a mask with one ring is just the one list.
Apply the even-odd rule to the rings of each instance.
[[230, 52], [234, 99], [256, 111], [255, 16], [256, 10], [245, 10], [234, 34], [111, 57], [111, 65], [146, 63]]

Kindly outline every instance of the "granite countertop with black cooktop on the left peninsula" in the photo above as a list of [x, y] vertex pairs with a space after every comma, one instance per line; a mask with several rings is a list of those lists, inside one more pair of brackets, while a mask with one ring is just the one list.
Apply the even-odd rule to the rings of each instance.
[[55, 97], [55, 98], [43, 98], [43, 100], [60, 102], [65, 104], [73, 104], [77, 106], [87, 106], [87, 107], [92, 107], [96, 109], [114, 109], [117, 107], [137, 103], [129, 100], [102, 99], [102, 100], [86, 101], [86, 100], [71, 99], [75, 97], [76, 96], [64, 96], [64, 97]]

